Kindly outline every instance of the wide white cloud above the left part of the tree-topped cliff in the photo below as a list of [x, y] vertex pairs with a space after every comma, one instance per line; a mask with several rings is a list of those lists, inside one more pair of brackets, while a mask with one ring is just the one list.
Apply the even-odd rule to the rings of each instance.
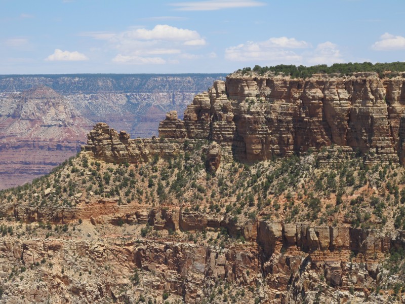
[[310, 44], [295, 38], [273, 37], [267, 41], [240, 44], [225, 50], [225, 58], [232, 61], [266, 61], [296, 63], [302, 56], [287, 49], [308, 48]]

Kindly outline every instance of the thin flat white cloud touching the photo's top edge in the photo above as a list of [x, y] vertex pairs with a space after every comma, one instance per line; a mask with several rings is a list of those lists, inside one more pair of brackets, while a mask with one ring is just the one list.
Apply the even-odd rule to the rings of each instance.
[[266, 3], [255, 0], [207, 0], [179, 2], [171, 4], [177, 11], [217, 11], [232, 8], [248, 8], [265, 6]]

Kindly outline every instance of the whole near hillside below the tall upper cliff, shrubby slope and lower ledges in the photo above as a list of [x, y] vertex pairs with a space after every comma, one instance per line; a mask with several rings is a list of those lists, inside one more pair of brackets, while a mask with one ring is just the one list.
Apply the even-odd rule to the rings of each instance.
[[208, 142], [176, 144], [4, 191], [3, 300], [399, 301], [402, 167], [332, 147], [213, 174]]

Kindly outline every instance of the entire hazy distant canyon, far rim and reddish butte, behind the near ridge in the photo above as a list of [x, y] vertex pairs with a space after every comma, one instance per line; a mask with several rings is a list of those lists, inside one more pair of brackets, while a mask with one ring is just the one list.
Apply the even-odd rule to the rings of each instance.
[[0, 188], [42, 176], [74, 156], [96, 122], [151, 137], [168, 110], [183, 111], [224, 76], [0, 75]]

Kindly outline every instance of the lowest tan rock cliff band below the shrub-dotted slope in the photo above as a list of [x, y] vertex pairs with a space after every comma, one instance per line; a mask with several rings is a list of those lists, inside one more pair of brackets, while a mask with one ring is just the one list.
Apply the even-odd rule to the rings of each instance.
[[[124, 218], [126, 206], [115, 209]], [[123, 213], [124, 212], [124, 213]], [[138, 210], [138, 213], [141, 211]], [[94, 225], [111, 218], [93, 212]], [[195, 233], [223, 227], [230, 235], [243, 236], [246, 243], [218, 249], [168, 238], [139, 238], [128, 235], [104, 235], [103, 242], [88, 237], [74, 239], [16, 239], [0, 237], [0, 277], [12, 268], [31, 266], [19, 285], [4, 283], [1, 303], [52, 299], [55, 302], [102, 303], [107, 298], [118, 302], [134, 298], [133, 292], [151, 292], [160, 297], [165, 291], [185, 303], [200, 303], [224, 281], [239, 288], [258, 288], [266, 303], [301, 303], [328, 301], [384, 301], [370, 290], [386, 275], [381, 260], [394, 248], [404, 248], [402, 232], [381, 233], [347, 226], [310, 226], [301, 223], [275, 223], [245, 220], [234, 223], [223, 214], [205, 214], [182, 210], [144, 210], [133, 217], [133, 224], [149, 221], [155, 230], [182, 229]], [[81, 214], [85, 216], [84, 213]], [[95, 216], [95, 217], [93, 217]], [[86, 216], [84, 217], [86, 219]], [[159, 219], [159, 220], [157, 220]], [[84, 229], [86, 229], [84, 227]], [[136, 234], [135, 234], [136, 235]], [[49, 268], [44, 260], [52, 263]], [[40, 269], [39, 269], [39, 267]], [[108, 268], [107, 268], [108, 265]], [[38, 270], [37, 270], [38, 268]], [[63, 270], [64, 269], [64, 270]], [[130, 285], [134, 269], [141, 271], [141, 287], [123, 293]], [[87, 275], [89, 270], [93, 276]], [[83, 277], [77, 273], [84, 272]], [[33, 274], [42, 278], [37, 282]], [[28, 285], [27, 285], [28, 284]], [[319, 286], [325, 288], [320, 297]], [[354, 292], [349, 292], [349, 290]], [[52, 291], [52, 292], [51, 292]], [[136, 295], [137, 293], [135, 293]], [[253, 299], [248, 299], [253, 302]]]

